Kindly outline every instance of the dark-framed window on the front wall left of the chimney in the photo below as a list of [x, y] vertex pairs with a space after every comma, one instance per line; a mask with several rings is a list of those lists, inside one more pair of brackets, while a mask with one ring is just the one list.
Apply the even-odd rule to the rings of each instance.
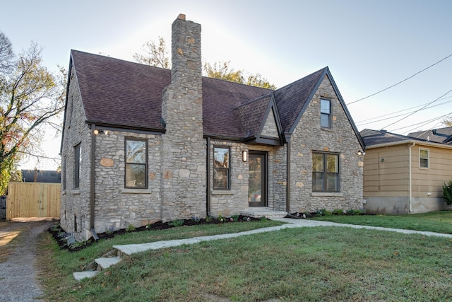
[[148, 187], [147, 143], [145, 139], [126, 139], [126, 187], [135, 189]]

